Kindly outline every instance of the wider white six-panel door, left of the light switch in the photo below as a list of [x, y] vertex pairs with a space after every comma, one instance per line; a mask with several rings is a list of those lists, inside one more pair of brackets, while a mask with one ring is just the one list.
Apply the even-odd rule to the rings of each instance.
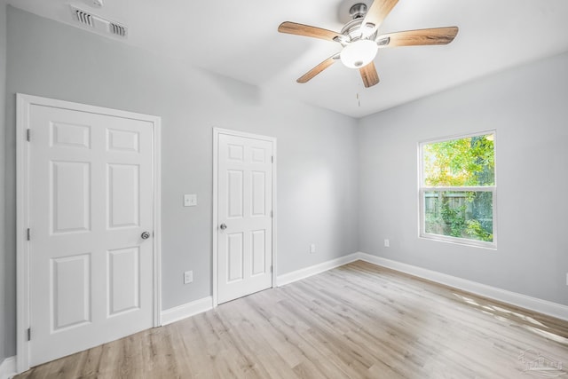
[[154, 326], [153, 123], [32, 105], [28, 128], [33, 367]]

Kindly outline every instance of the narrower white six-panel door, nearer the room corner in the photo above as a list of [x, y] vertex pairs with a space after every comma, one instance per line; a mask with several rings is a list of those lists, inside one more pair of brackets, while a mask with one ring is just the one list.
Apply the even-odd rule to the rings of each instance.
[[217, 134], [217, 303], [272, 287], [272, 138]]

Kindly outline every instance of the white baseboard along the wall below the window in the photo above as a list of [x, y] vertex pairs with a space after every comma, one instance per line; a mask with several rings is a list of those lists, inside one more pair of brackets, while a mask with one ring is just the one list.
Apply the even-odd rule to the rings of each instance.
[[461, 279], [442, 272], [435, 272], [422, 267], [407, 265], [383, 257], [376, 257], [371, 254], [357, 253], [360, 260], [387, 267], [399, 272], [406, 272], [410, 275], [418, 276], [423, 279], [436, 281], [446, 286], [462, 289], [476, 295], [485, 296], [503, 303], [517, 305], [530, 311], [548, 314], [562, 320], [568, 320], [568, 306], [541, 300], [536, 297], [517, 294], [501, 288], [487, 286], [477, 283], [477, 281]]

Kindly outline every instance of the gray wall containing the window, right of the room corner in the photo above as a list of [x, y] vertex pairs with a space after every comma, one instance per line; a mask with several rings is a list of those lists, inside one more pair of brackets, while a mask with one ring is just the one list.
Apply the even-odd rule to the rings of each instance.
[[[564, 53], [361, 120], [359, 249], [568, 305], [567, 106]], [[419, 239], [418, 142], [493, 129], [498, 249]]]

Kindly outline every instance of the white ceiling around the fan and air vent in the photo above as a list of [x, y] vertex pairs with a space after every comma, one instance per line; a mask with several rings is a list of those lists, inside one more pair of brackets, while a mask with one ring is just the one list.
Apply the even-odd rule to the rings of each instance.
[[280, 34], [280, 22], [339, 31], [341, 0], [104, 0], [100, 9], [91, 8], [87, 0], [7, 2], [83, 28], [71, 17], [68, 4], [75, 4], [126, 24], [129, 37], [124, 43], [353, 117], [568, 51], [566, 0], [399, 0], [380, 34], [458, 26], [454, 42], [379, 50], [375, 66], [381, 83], [369, 89], [358, 70], [339, 62], [311, 82], [298, 84], [296, 78], [341, 45]]

